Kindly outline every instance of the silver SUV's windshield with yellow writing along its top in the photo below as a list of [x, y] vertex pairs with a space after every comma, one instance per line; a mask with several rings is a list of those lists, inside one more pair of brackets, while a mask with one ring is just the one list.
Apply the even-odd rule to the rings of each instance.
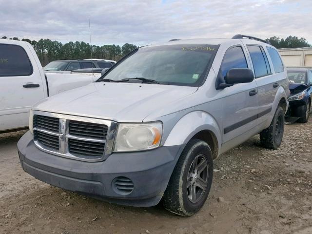
[[143, 47], [101, 79], [145, 78], [162, 84], [199, 86], [217, 48], [217, 45]]

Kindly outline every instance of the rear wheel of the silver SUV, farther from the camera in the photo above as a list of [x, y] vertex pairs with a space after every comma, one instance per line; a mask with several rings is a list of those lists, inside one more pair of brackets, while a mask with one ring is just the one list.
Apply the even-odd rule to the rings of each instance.
[[260, 133], [260, 142], [264, 148], [276, 150], [282, 143], [285, 116], [282, 107], [278, 107], [270, 126]]

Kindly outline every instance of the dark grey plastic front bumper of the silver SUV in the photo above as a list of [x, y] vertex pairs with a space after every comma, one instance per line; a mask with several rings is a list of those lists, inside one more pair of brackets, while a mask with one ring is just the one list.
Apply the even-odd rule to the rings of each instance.
[[[114, 153], [105, 161], [83, 162], [39, 150], [27, 132], [18, 142], [20, 163], [25, 172], [48, 184], [122, 205], [154, 206], [169, 182], [182, 145], [159, 147], [135, 153]], [[114, 179], [133, 182], [129, 195], [120, 194]]]

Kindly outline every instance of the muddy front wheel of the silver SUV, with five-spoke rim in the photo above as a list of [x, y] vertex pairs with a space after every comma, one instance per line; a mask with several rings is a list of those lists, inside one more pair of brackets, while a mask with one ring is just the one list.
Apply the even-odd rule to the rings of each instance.
[[[197, 159], [196, 162], [195, 159]], [[205, 162], [207, 166], [204, 165]], [[200, 171], [204, 166], [205, 169], [197, 173], [197, 170]], [[164, 207], [177, 215], [194, 215], [207, 200], [213, 181], [213, 172], [213, 157], [209, 145], [199, 139], [190, 140], [176, 164], [164, 193]], [[202, 189], [203, 184], [205, 184], [204, 189]]]

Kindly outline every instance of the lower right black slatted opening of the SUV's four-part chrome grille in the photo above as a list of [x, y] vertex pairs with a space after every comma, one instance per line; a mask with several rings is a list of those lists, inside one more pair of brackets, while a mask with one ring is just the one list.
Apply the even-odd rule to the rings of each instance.
[[68, 151], [78, 156], [102, 156], [104, 153], [104, 143], [68, 139]]

